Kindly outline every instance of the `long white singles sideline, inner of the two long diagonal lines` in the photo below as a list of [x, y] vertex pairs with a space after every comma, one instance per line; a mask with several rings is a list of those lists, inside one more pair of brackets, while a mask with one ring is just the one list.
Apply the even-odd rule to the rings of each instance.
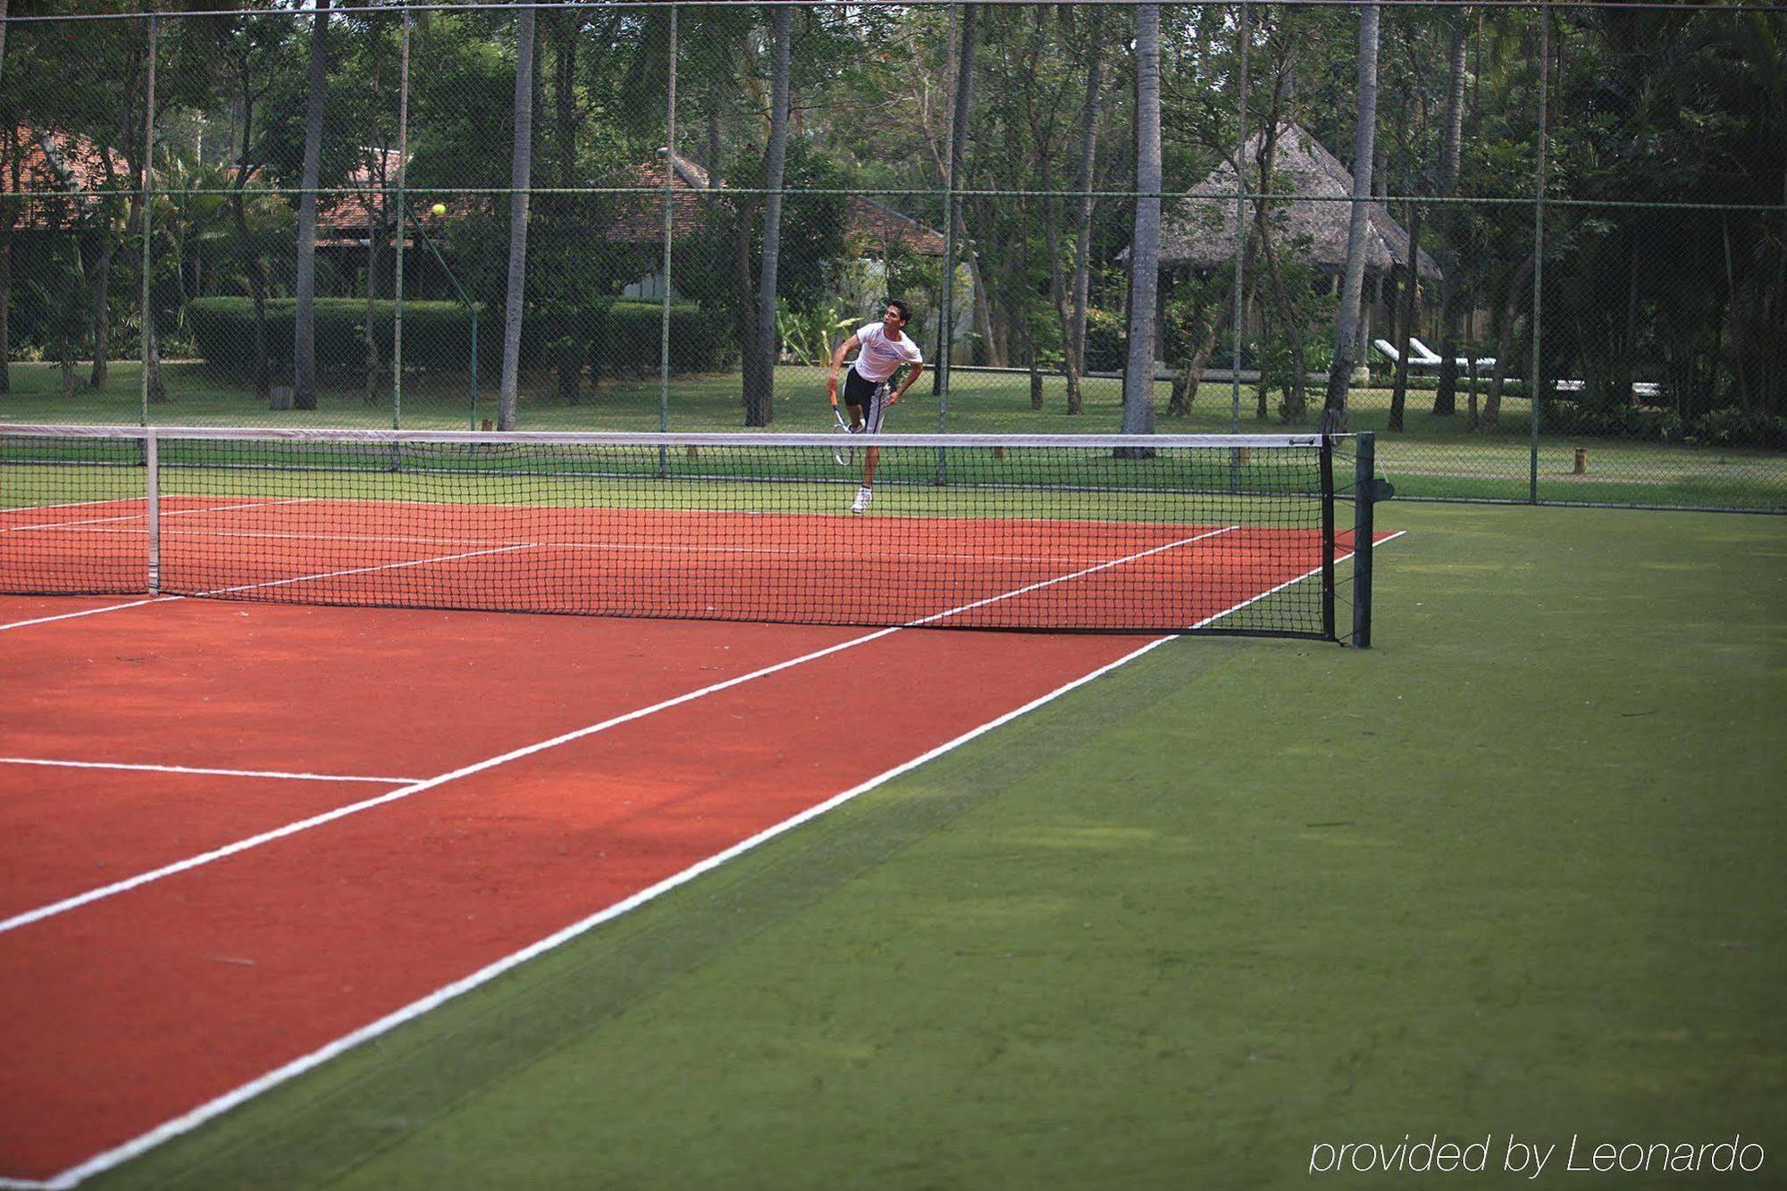
[[652, 715], [656, 712], [663, 712], [663, 710], [668, 710], [672, 706], [679, 706], [683, 703], [692, 703], [692, 701], [706, 697], [709, 694], [718, 694], [720, 690], [731, 690], [733, 687], [749, 683], [749, 681], [758, 680], [758, 678], [767, 678], [770, 674], [777, 674], [781, 671], [792, 669], [795, 665], [802, 665], [806, 662], [817, 662], [818, 658], [829, 656], [833, 653], [842, 653], [845, 649], [854, 649], [856, 646], [867, 646], [872, 640], [879, 640], [879, 638], [888, 637], [892, 633], [899, 633], [901, 629], [919, 628], [919, 626], [929, 624], [933, 621], [942, 621], [944, 617], [952, 617], [952, 615], [969, 612], [970, 608], [981, 608], [985, 604], [999, 603], [1001, 599], [1011, 599], [1015, 596], [1024, 596], [1026, 592], [1035, 592], [1036, 588], [1042, 588], [1042, 587], [1051, 587], [1054, 583], [1065, 583], [1069, 579], [1078, 579], [1078, 578], [1081, 578], [1085, 574], [1092, 574], [1095, 570], [1108, 570], [1110, 567], [1120, 567], [1122, 563], [1135, 562], [1137, 558], [1145, 558], [1149, 554], [1158, 554], [1160, 551], [1170, 549], [1172, 545], [1185, 545], [1185, 544], [1196, 542], [1199, 538], [1213, 536], [1217, 533], [1226, 533], [1233, 526], [1226, 526], [1224, 529], [1212, 529], [1210, 533], [1197, 535], [1196, 538], [1185, 538], [1183, 542], [1174, 542], [1174, 544], [1169, 544], [1169, 545], [1156, 545], [1156, 547], [1153, 547], [1149, 551], [1142, 551], [1138, 554], [1128, 554], [1124, 558], [1115, 558], [1112, 562], [1099, 563], [1097, 567], [1086, 567], [1085, 570], [1076, 570], [1074, 574], [1056, 576], [1054, 579], [1044, 579], [1042, 583], [1031, 583], [1028, 587], [1020, 587], [1017, 590], [1004, 592], [1001, 596], [992, 596], [988, 599], [974, 601], [972, 604], [961, 604], [960, 608], [951, 608], [949, 612], [938, 612], [938, 613], [924, 617], [920, 621], [910, 621], [908, 624], [899, 624], [899, 626], [894, 626], [894, 628], [876, 629], [874, 633], [865, 633], [861, 637], [852, 637], [851, 640], [838, 642], [838, 644], [833, 644], [833, 646], [826, 646], [824, 649], [815, 649], [815, 651], [804, 653], [804, 655], [801, 655], [797, 658], [788, 658], [784, 662], [776, 662], [772, 665], [759, 667], [756, 671], [751, 671], [749, 674], [738, 674], [734, 678], [727, 678], [727, 680], [711, 683], [711, 685], [702, 687], [699, 690], [690, 690], [690, 692], [684, 692], [684, 694], [679, 694], [679, 696], [672, 696], [668, 699], [661, 699], [658, 703], [652, 703], [650, 706], [634, 708], [631, 712], [624, 712], [620, 715], [613, 715], [613, 717], [599, 721], [595, 724], [584, 724], [583, 728], [575, 728], [572, 731], [561, 733], [558, 737], [552, 737], [550, 740], [538, 740], [534, 744], [525, 744], [525, 746], [522, 746], [518, 749], [511, 749], [508, 753], [502, 753], [500, 756], [491, 756], [491, 758], [486, 758], [486, 760], [481, 760], [481, 762], [474, 762], [470, 765], [463, 765], [459, 769], [450, 771], [450, 773], [438, 774], [434, 778], [427, 778], [427, 780], [422, 780], [422, 781], [413, 781], [413, 783], [409, 783], [409, 785], [406, 785], [402, 789], [390, 790], [388, 794], [381, 794], [377, 798], [368, 798], [368, 799], [359, 801], [359, 803], [348, 803], [347, 807], [336, 807], [334, 810], [325, 810], [322, 814], [311, 815], [309, 819], [298, 819], [295, 823], [288, 823], [284, 826], [272, 828], [268, 832], [261, 832], [259, 835], [248, 835], [248, 837], [239, 839], [239, 840], [236, 840], [232, 844], [223, 844], [222, 848], [213, 848], [211, 851], [200, 853], [197, 857], [188, 857], [184, 860], [175, 860], [173, 864], [164, 864], [159, 869], [150, 869], [147, 873], [138, 873], [136, 876], [127, 876], [127, 878], [123, 878], [120, 882], [113, 882], [111, 885], [100, 885], [96, 889], [89, 889], [89, 891], [75, 894], [71, 898], [63, 898], [61, 901], [54, 901], [50, 905], [38, 907], [36, 910], [23, 910], [20, 914], [14, 914], [13, 917], [0, 919], [0, 935], [7, 933], [11, 930], [18, 930], [20, 926], [30, 926], [32, 923], [41, 923], [46, 917], [55, 917], [57, 914], [66, 914], [66, 912], [80, 908], [84, 905], [91, 905], [93, 901], [102, 901], [105, 898], [114, 898], [114, 896], [118, 896], [122, 892], [129, 892], [132, 889], [139, 889], [139, 887], [148, 885], [152, 882], [159, 882], [159, 880], [164, 880], [168, 876], [175, 876], [179, 873], [186, 873], [189, 869], [197, 869], [200, 866], [213, 864], [213, 862], [223, 860], [227, 857], [234, 857], [236, 853], [248, 851], [250, 848], [259, 848], [261, 844], [270, 844], [270, 842], [273, 842], [277, 839], [284, 839], [288, 835], [297, 835], [298, 832], [307, 832], [311, 828], [323, 826], [325, 823], [334, 823], [336, 819], [345, 819], [347, 815], [354, 815], [354, 814], [359, 814], [363, 810], [372, 810], [373, 807], [382, 807], [386, 803], [395, 803], [399, 799], [411, 798], [413, 794], [422, 794], [424, 790], [432, 790], [434, 787], [445, 785], [447, 781], [454, 781], [457, 778], [468, 778], [472, 774], [484, 773], [486, 769], [495, 769], [497, 765], [504, 765], [508, 762], [520, 760], [524, 756], [533, 756], [534, 753], [543, 753], [545, 749], [552, 749], [552, 748], [558, 748], [561, 744], [570, 744], [572, 740], [583, 740], [584, 737], [593, 737], [599, 731], [608, 731], [609, 728], [618, 728], [620, 724], [629, 724], [629, 722], [633, 722], [636, 719], [643, 719], [645, 715]]

